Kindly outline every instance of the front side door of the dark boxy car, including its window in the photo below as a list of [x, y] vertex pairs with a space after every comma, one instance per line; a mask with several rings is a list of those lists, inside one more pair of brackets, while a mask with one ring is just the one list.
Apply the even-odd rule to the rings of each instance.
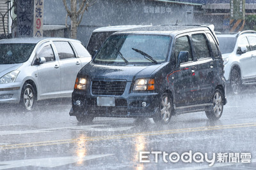
[[[168, 80], [170, 83], [173, 83], [175, 90], [175, 105], [179, 107], [195, 104], [195, 93], [197, 90], [196, 76], [198, 76], [198, 71], [196, 62], [193, 60], [189, 35], [182, 35], [175, 38], [173, 49], [176, 66], [174, 71], [169, 74]], [[178, 63], [180, 52], [188, 52], [188, 61]]]

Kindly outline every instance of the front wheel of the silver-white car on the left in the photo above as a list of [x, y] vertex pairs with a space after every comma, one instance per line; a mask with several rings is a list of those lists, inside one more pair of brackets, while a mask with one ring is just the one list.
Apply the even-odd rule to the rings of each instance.
[[33, 110], [36, 104], [36, 93], [34, 87], [25, 83], [21, 90], [20, 105], [27, 111]]

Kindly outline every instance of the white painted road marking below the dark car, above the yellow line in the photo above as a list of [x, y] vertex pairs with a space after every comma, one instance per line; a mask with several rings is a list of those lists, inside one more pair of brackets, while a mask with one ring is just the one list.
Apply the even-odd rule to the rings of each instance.
[[[54, 132], [56, 130], [61, 130], [61, 129], [114, 132], [114, 131], [127, 131], [132, 127], [134, 127], [134, 126], [130, 126], [130, 127], [106, 128], [106, 126], [109, 126], [109, 125], [82, 125], [82, 126], [72, 126], [72, 127], [57, 127], [57, 128], [51, 128], [51, 129], [36, 129], [36, 130], [29, 130], [29, 131], [0, 131], [0, 136], [10, 135], [10, 134], [35, 134], [35, 133]], [[97, 127], [105, 127], [105, 129], [97, 128]]]

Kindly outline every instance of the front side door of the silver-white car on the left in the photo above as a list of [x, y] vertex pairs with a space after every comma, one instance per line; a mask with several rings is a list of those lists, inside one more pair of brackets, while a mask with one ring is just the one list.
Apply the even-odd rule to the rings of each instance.
[[36, 51], [36, 58], [45, 58], [45, 63], [37, 66], [40, 98], [60, 96], [60, 64], [54, 55], [52, 45], [45, 43]]

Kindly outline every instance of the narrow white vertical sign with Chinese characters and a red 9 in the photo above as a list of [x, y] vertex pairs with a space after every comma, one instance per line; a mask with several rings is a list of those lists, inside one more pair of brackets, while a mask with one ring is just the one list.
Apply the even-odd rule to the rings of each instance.
[[44, 0], [34, 0], [34, 31], [33, 36], [43, 36]]

